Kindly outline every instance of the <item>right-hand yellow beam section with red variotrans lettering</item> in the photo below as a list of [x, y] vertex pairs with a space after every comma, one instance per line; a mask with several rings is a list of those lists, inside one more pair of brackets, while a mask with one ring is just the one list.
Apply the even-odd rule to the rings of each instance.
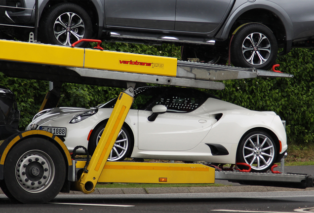
[[177, 59], [85, 49], [84, 68], [176, 76]]

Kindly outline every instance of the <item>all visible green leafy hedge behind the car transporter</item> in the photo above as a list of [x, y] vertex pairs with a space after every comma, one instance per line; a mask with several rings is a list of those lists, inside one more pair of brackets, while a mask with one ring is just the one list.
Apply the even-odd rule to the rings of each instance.
[[[180, 58], [180, 47], [162, 44], [146, 46], [127, 43], [103, 43], [105, 49], [149, 55]], [[224, 81], [223, 91], [209, 91], [221, 99], [252, 110], [275, 111], [287, 121], [288, 141], [295, 143], [314, 142], [314, 96], [313, 96], [312, 49], [293, 49], [277, 60], [279, 70], [294, 75], [294, 78], [254, 78]], [[8, 87], [17, 96], [21, 110], [20, 129], [24, 129], [38, 112], [48, 90], [48, 82], [8, 78], [0, 73], [0, 84]], [[91, 107], [116, 97], [121, 89], [65, 83], [59, 106]]]

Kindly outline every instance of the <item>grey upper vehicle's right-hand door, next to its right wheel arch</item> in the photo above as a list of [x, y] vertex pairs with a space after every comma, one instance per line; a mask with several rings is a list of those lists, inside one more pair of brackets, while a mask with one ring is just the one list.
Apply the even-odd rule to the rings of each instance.
[[175, 30], [209, 33], [214, 31], [235, 0], [177, 0]]

